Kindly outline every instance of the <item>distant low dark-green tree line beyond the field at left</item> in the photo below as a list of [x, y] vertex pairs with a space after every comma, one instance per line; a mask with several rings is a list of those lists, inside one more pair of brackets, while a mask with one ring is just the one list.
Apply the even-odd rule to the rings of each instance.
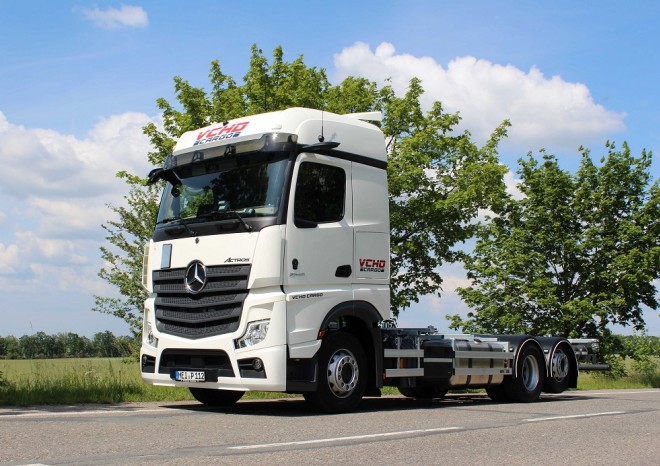
[[72, 332], [0, 336], [0, 359], [117, 358], [137, 351], [133, 337], [98, 332], [92, 339]]

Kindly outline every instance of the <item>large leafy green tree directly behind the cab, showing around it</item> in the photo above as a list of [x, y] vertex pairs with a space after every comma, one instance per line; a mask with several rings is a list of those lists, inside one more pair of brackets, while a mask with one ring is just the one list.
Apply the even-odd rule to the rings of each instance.
[[[251, 52], [242, 85], [225, 75], [218, 61], [211, 64], [209, 92], [174, 78], [180, 109], [158, 99], [163, 127], [144, 128], [153, 147], [149, 161], [161, 165], [179, 136], [212, 121], [293, 106], [336, 113], [381, 110], [389, 152], [392, 310], [397, 315], [420, 295], [438, 292], [438, 266], [456, 260], [453, 247], [472, 235], [478, 210], [497, 211], [504, 196], [505, 168], [498, 162], [497, 144], [508, 123], [478, 148], [469, 133], [456, 133], [458, 115], [445, 113], [437, 102], [428, 112], [422, 110], [418, 79], [398, 97], [391, 86], [379, 88], [364, 78], [349, 77], [332, 86], [325, 71], [306, 66], [302, 56], [285, 62], [281, 47], [271, 63], [256, 46]], [[107, 265], [100, 276], [123, 298], [97, 296], [95, 310], [123, 318], [138, 333], [145, 298], [140, 287], [142, 245], [154, 227], [157, 192], [145, 187], [141, 176], [118, 176], [129, 186], [127, 206], [110, 206], [119, 219], [104, 225], [111, 247], [102, 248]]]

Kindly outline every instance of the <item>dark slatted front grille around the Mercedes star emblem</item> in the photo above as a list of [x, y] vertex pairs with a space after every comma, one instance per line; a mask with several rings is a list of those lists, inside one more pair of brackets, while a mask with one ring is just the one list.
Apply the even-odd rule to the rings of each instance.
[[156, 328], [184, 338], [204, 338], [238, 328], [248, 294], [249, 265], [206, 268], [206, 286], [190, 294], [184, 283], [186, 268], [153, 272]]

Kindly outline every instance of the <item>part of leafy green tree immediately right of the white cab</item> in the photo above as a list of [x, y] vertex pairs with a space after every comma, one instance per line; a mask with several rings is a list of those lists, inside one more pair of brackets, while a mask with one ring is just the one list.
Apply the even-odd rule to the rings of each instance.
[[403, 98], [382, 91], [383, 132], [388, 139], [391, 305], [394, 315], [419, 296], [441, 289], [438, 268], [459, 259], [454, 249], [474, 234], [479, 209], [499, 211], [506, 169], [497, 145], [509, 123], [483, 148], [470, 134], [456, 134], [456, 114], [439, 102], [424, 114], [421, 83], [413, 79]]

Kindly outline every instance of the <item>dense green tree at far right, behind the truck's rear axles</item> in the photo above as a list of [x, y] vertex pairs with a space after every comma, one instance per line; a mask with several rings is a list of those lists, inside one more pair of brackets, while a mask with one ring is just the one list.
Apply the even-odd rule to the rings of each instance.
[[642, 306], [658, 307], [660, 187], [650, 152], [606, 149], [597, 166], [580, 148], [575, 174], [545, 152], [519, 161], [524, 197], [479, 228], [464, 256], [473, 284], [458, 290], [474, 311], [452, 328], [605, 342], [610, 324], [644, 328]]

